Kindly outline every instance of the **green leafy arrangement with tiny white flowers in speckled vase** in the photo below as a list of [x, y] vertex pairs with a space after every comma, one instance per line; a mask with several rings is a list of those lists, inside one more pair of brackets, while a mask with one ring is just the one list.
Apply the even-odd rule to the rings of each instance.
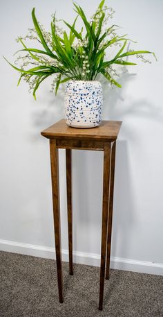
[[[9, 64], [20, 72], [18, 85], [23, 78], [33, 92], [36, 98], [36, 91], [43, 80], [49, 76], [52, 79], [52, 91], [55, 89], [57, 94], [58, 87], [67, 80], [95, 80], [98, 74], [102, 74], [111, 85], [121, 87], [115, 80], [119, 76], [113, 65], [137, 65], [135, 62], [128, 62], [128, 56], [136, 55], [143, 62], [151, 61], [144, 58], [143, 54], [152, 53], [150, 51], [126, 50], [129, 42], [127, 35], [117, 35], [116, 31], [119, 26], [109, 22], [113, 18], [115, 11], [113, 8], [105, 6], [105, 0], [99, 3], [95, 14], [86, 18], [84, 10], [76, 3], [73, 3], [77, 17], [73, 25], [65, 21], [57, 20], [52, 15], [51, 31], [47, 32], [35, 16], [35, 8], [32, 10], [32, 21], [34, 28], [28, 29], [29, 34], [26, 37], [18, 37], [17, 42], [23, 46], [23, 55], [19, 55], [15, 65]], [[78, 17], [81, 19], [83, 26], [77, 31], [75, 24]], [[69, 31], [64, 31], [59, 27], [60, 21], [66, 24]], [[41, 45], [41, 49], [28, 48], [24, 43], [25, 40], [34, 40]], [[113, 58], [107, 60], [106, 49], [117, 46], [117, 53]], [[18, 52], [19, 52], [18, 51]], [[17, 52], [17, 53], [18, 53]], [[21, 62], [17, 67], [17, 64]], [[26, 67], [30, 67], [26, 69]]]

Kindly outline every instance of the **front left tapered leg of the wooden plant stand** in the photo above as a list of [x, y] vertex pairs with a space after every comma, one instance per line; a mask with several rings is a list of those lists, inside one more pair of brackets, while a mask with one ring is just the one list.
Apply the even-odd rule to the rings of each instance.
[[56, 148], [56, 140], [50, 139], [50, 163], [52, 177], [52, 203], [55, 225], [55, 252], [57, 262], [57, 279], [59, 290], [59, 302], [63, 302], [63, 283], [61, 268], [61, 225], [60, 225], [60, 208], [59, 208], [59, 163], [58, 149]]

